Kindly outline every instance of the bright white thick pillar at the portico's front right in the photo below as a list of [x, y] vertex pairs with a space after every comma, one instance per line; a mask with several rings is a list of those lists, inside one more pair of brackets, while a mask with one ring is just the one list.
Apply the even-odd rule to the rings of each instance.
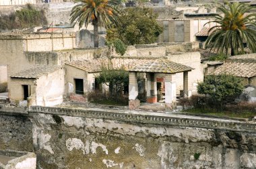
[[176, 74], [165, 76], [165, 107], [166, 111], [176, 108]]

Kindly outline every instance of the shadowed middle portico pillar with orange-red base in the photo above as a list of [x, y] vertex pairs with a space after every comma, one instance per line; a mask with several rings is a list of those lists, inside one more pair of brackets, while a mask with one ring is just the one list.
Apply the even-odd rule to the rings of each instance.
[[157, 102], [156, 76], [154, 73], [147, 73], [147, 103]]

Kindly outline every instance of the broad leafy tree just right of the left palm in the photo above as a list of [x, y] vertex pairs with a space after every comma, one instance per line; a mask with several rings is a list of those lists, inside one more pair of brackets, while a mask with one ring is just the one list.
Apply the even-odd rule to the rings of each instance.
[[107, 41], [119, 39], [127, 45], [152, 44], [162, 33], [162, 27], [156, 21], [157, 15], [152, 9], [126, 8], [120, 18], [116, 27], [107, 30]]

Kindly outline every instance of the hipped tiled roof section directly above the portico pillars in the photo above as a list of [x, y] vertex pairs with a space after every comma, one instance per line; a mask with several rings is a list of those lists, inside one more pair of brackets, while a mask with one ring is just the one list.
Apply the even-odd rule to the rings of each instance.
[[176, 62], [171, 62], [166, 59], [156, 59], [153, 62], [147, 62], [145, 64], [137, 64], [129, 71], [133, 72], [159, 72], [159, 73], [177, 73], [193, 70], [189, 66], [179, 64]]

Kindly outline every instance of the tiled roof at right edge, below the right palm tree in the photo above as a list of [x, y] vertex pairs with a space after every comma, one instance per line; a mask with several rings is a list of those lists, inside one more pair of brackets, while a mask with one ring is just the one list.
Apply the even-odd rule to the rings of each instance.
[[232, 74], [250, 78], [256, 76], [256, 62], [226, 62], [214, 70], [213, 74]]

